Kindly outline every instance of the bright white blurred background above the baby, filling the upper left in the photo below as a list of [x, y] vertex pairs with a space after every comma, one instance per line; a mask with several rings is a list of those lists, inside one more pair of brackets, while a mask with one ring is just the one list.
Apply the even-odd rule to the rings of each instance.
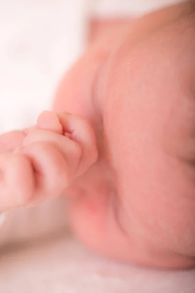
[[0, 0], [0, 133], [31, 126], [86, 44], [89, 19], [178, 0]]

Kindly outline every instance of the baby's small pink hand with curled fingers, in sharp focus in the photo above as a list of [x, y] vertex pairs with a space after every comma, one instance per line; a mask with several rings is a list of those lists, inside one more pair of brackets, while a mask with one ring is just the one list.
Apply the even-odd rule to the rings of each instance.
[[81, 118], [44, 111], [37, 126], [0, 137], [0, 211], [61, 195], [97, 160], [93, 129]]

